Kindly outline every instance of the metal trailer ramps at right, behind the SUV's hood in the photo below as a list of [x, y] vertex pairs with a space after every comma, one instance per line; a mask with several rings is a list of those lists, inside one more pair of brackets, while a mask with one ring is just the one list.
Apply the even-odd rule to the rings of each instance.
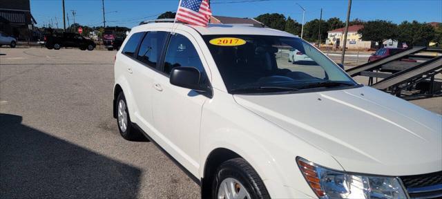
[[441, 48], [407, 48], [346, 71], [352, 77], [368, 77], [368, 86], [404, 99], [442, 96]]

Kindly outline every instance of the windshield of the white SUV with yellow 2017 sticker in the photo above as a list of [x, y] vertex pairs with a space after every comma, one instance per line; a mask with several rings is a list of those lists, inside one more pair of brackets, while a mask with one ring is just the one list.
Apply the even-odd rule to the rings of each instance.
[[206, 35], [204, 40], [229, 93], [357, 85], [333, 61], [297, 37]]

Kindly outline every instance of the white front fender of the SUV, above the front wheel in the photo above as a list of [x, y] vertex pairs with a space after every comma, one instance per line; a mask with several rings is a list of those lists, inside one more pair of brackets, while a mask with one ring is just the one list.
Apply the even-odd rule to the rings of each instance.
[[219, 148], [229, 149], [249, 162], [273, 198], [316, 197], [298, 168], [298, 155], [343, 170], [332, 155], [236, 104], [232, 95], [214, 89], [214, 96], [202, 111], [202, 167], [198, 177], [206, 177], [205, 161]]

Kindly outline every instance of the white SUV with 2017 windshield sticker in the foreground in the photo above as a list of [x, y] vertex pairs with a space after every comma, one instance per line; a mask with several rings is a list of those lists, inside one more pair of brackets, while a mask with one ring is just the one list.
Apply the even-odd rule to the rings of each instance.
[[[290, 63], [293, 49], [312, 61]], [[146, 135], [202, 198], [442, 196], [441, 115], [356, 84], [287, 32], [137, 26], [114, 93], [121, 135]]]

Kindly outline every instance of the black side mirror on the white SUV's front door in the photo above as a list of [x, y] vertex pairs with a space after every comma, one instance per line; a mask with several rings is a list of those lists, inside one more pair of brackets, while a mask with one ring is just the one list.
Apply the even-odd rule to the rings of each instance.
[[199, 92], [206, 92], [206, 88], [200, 86], [201, 73], [194, 67], [175, 67], [172, 69], [170, 82], [172, 85], [189, 88]]

